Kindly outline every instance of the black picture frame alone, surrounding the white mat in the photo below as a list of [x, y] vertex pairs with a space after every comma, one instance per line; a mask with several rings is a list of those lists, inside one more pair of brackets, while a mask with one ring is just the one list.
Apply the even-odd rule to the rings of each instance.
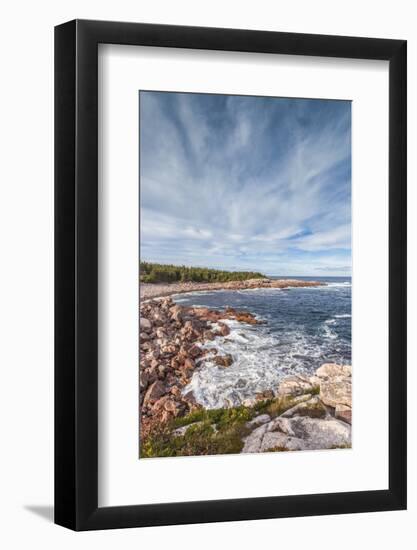
[[[98, 506], [97, 53], [109, 43], [389, 61], [387, 490]], [[55, 28], [55, 523], [78, 531], [406, 508], [406, 46], [106, 21]]]

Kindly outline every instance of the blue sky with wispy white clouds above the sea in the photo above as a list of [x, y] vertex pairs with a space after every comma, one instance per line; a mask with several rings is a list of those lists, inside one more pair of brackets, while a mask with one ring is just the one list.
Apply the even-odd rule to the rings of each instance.
[[140, 92], [141, 259], [350, 275], [349, 101]]

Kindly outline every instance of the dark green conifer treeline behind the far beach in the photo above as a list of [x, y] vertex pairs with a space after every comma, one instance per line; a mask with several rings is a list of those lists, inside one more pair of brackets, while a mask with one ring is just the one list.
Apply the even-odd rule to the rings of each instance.
[[263, 277], [265, 275], [262, 275], [262, 273], [253, 271], [222, 271], [206, 267], [140, 262], [140, 280], [143, 283], [225, 283], [227, 281], [245, 281]]

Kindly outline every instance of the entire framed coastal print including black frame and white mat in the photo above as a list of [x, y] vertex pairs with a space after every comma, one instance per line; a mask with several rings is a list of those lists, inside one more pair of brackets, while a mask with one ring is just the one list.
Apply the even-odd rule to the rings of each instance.
[[55, 521], [406, 507], [406, 42], [55, 30]]

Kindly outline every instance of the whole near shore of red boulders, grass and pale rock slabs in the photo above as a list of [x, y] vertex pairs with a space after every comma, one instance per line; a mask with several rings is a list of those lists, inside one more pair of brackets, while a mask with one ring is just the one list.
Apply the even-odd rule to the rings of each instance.
[[[228, 368], [232, 364], [232, 356], [203, 347], [207, 341], [227, 337], [230, 329], [223, 321], [228, 319], [249, 324], [259, 322], [246, 311], [184, 307], [170, 297], [141, 303], [140, 440], [141, 445], [146, 443], [149, 447], [148, 440], [154, 434], [158, 437], [162, 434], [165, 445], [161, 447], [163, 451], [148, 450], [143, 456], [199, 454], [189, 445], [184, 451], [183, 440], [190, 439], [189, 434], [199, 434], [199, 442], [200, 432], [211, 440], [225, 436], [219, 432], [221, 422], [219, 424], [216, 411], [202, 409], [192, 392], [186, 393], [184, 388], [207, 354], [211, 354], [211, 361], [219, 367]], [[231, 422], [238, 429], [229, 430], [229, 435], [236, 441], [230, 450], [221, 452], [350, 447], [351, 407], [348, 365], [324, 364], [314, 376], [288, 376], [278, 388], [230, 409]], [[225, 426], [222, 427], [224, 432]], [[171, 440], [176, 445], [173, 449], [169, 448]], [[212, 448], [207, 444], [200, 454], [217, 452]], [[166, 454], [168, 451], [173, 454]]]

